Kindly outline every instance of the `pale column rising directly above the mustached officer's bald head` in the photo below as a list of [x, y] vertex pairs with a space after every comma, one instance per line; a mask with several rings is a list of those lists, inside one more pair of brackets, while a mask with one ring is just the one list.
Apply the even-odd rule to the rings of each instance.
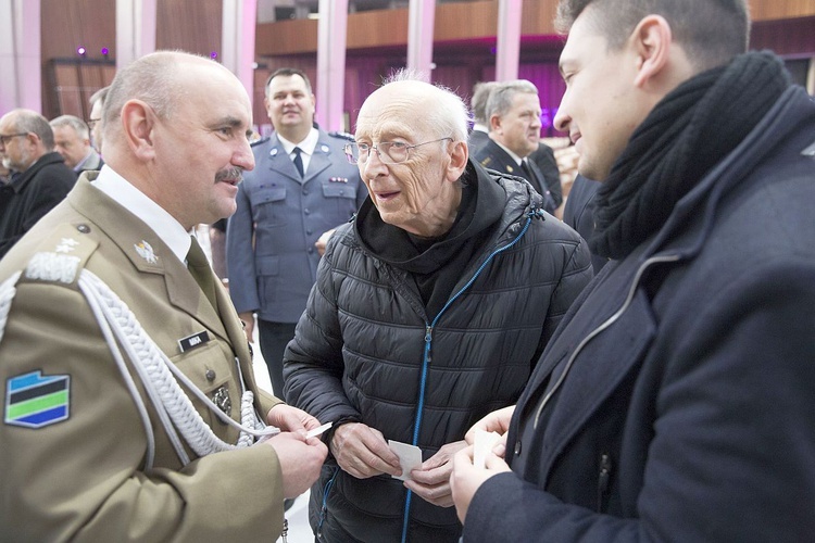
[[116, 0], [116, 68], [155, 51], [158, 0]]

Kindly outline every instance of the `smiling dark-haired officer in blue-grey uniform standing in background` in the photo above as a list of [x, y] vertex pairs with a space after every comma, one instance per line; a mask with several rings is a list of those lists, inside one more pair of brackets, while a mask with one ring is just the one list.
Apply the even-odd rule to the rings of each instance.
[[275, 71], [265, 94], [275, 132], [253, 144], [256, 166], [240, 185], [226, 255], [233, 302], [249, 341], [258, 314], [261, 352], [272, 388], [281, 394], [283, 353], [316, 280], [322, 250], [367, 190], [346, 159], [347, 137], [314, 125], [314, 94], [303, 72]]

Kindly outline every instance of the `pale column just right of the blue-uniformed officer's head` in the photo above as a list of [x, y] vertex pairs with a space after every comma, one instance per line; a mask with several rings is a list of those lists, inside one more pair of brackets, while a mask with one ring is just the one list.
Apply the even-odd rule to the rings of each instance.
[[317, 24], [317, 111], [324, 130], [344, 130], [348, 0], [319, 0]]

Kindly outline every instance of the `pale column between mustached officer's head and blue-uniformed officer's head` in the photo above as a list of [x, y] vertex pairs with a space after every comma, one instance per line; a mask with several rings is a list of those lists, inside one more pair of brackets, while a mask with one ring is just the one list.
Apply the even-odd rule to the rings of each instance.
[[224, 0], [221, 62], [238, 76], [254, 101], [254, 30], [258, 0]]

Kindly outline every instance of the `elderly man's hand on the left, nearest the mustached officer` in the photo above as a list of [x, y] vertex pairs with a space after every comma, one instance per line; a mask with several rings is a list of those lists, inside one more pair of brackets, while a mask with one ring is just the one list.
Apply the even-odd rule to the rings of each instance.
[[383, 433], [362, 422], [337, 428], [331, 437], [331, 453], [339, 467], [358, 479], [402, 473], [399, 456], [388, 447]]

